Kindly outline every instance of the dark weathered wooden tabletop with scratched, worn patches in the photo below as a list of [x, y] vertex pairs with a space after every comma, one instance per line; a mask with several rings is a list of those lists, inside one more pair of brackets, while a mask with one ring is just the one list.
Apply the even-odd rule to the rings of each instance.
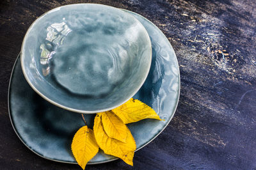
[[[8, 82], [22, 39], [44, 12], [82, 1], [0, 2], [0, 168], [79, 169], [38, 157], [22, 144], [8, 116]], [[83, 1], [139, 13], [173, 45], [180, 101], [168, 127], [135, 153], [88, 169], [256, 168], [256, 1]]]

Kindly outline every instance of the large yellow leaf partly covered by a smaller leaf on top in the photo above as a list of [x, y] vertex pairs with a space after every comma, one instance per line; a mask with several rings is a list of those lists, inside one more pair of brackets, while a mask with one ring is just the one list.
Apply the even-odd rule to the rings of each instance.
[[94, 119], [93, 131], [95, 139], [99, 144], [100, 148], [104, 151], [104, 153], [108, 155], [113, 155], [118, 158], [122, 158], [125, 163], [133, 166], [132, 159], [134, 156], [134, 151], [136, 150], [136, 143], [132, 137], [129, 128], [127, 128], [126, 130], [126, 143], [108, 137], [108, 135], [104, 131], [102, 121], [97, 114]]

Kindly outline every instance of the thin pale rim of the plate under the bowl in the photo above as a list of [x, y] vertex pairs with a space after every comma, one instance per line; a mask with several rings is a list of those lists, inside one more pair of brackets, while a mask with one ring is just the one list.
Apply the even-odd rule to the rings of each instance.
[[[150, 22], [150, 24], [152, 24], [154, 27], [156, 27], [157, 29], [159, 29], [153, 22], [151, 22], [150, 20], [146, 19], [145, 17], [143, 17], [142, 15], [138, 14], [138, 13], [135, 13], [135, 12], [131, 12], [129, 10], [125, 10], [125, 9], [121, 9], [119, 8], [120, 10], [123, 10], [125, 12], [130, 12], [130, 13], [134, 13], [135, 15], [139, 15], [141, 18], [147, 20], [148, 22]], [[161, 34], [164, 35], [164, 33], [161, 31], [161, 29], [159, 29], [159, 32]], [[169, 40], [166, 38], [166, 36], [164, 35], [164, 38], [169, 42]], [[178, 73], [178, 81], [179, 81], [179, 90], [177, 91], [178, 94], [177, 94], [177, 102], [175, 104], [175, 108], [173, 110], [173, 113], [172, 113], [172, 116], [170, 116], [170, 120], [166, 123], [166, 125], [152, 138], [150, 139], [147, 143], [143, 144], [142, 146], [140, 146], [140, 148], [137, 148], [136, 151], [140, 150], [141, 148], [147, 146], [147, 144], [151, 143], [154, 139], [156, 139], [156, 137], [161, 134], [163, 132], [163, 130], [169, 125], [170, 121], [172, 120], [176, 110], [177, 110], [177, 106], [179, 104], [179, 98], [180, 98], [180, 69], [179, 69], [179, 63], [178, 63], [178, 60], [177, 60], [177, 56], [175, 54], [175, 51], [171, 45], [171, 43], [169, 42], [169, 45], [170, 47], [172, 48], [173, 50], [173, 54], [175, 56], [175, 62], [177, 63], [177, 70], [179, 71]], [[20, 52], [17, 56], [17, 58], [15, 59], [15, 63], [13, 64], [13, 67], [12, 67], [12, 73], [10, 75], [10, 81], [9, 81], [9, 85], [8, 85], [8, 114], [9, 114], [9, 118], [10, 118], [10, 121], [11, 121], [11, 124], [12, 124], [12, 127], [13, 127], [13, 130], [15, 132], [15, 134], [19, 137], [20, 141], [31, 151], [33, 151], [33, 153], [35, 153], [36, 155], [38, 155], [39, 157], [42, 157], [42, 158], [45, 158], [47, 160], [52, 160], [54, 162], [61, 162], [61, 163], [67, 163], [67, 164], [77, 164], [77, 162], [68, 162], [68, 161], [62, 161], [62, 160], [56, 160], [56, 159], [53, 159], [53, 158], [47, 158], [47, 157], [44, 157], [44, 155], [40, 155], [40, 153], [37, 153], [36, 151], [32, 150], [32, 148], [29, 148], [29, 146], [21, 139], [20, 135], [17, 133], [17, 130], [15, 128], [15, 125], [13, 123], [13, 120], [12, 120], [12, 114], [11, 114], [11, 109], [10, 109], [10, 86], [11, 86], [11, 82], [12, 82], [12, 77], [13, 77], [13, 71], [14, 71], [14, 68], [15, 68], [15, 65], [18, 61], [18, 58], [20, 57]], [[134, 152], [136, 152], [134, 151]], [[102, 162], [88, 162], [88, 165], [93, 165], [93, 164], [104, 164], [106, 162], [112, 162], [114, 160], [118, 160], [119, 158], [113, 158], [113, 159], [109, 159], [109, 160], [104, 160]]]

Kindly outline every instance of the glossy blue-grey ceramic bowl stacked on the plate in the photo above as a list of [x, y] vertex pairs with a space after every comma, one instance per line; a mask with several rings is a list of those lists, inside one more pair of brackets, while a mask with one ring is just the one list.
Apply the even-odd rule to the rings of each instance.
[[20, 57], [26, 80], [43, 98], [95, 113], [124, 104], [141, 88], [152, 49], [132, 15], [102, 4], [72, 4], [33, 22]]

